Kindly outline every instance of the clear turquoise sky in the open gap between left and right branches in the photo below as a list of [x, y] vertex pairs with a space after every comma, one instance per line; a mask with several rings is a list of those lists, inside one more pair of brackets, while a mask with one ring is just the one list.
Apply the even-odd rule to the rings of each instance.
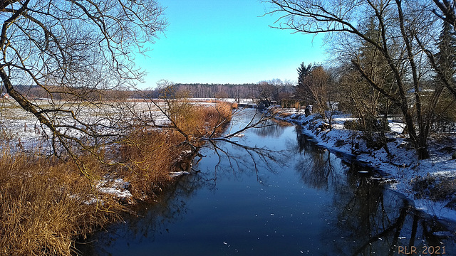
[[321, 38], [269, 28], [276, 17], [257, 0], [157, 0], [169, 23], [138, 56], [147, 72], [142, 88], [158, 80], [189, 83], [249, 83], [279, 78], [296, 82], [304, 62], [323, 62]]

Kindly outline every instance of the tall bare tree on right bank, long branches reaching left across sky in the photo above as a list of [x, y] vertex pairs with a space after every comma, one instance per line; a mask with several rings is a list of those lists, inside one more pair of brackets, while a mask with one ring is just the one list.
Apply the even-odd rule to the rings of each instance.
[[[326, 33], [328, 36], [346, 35], [352, 42], [364, 43], [378, 50], [388, 63], [395, 81], [394, 93], [388, 91], [361, 65], [361, 54], [351, 49], [352, 64], [363, 78], [383, 97], [400, 106], [410, 141], [419, 159], [429, 157], [427, 136], [429, 130], [423, 110], [423, 78], [428, 72], [425, 48], [435, 38], [435, 18], [430, 16], [428, 1], [314, 1], [271, 0], [279, 14], [276, 28], [302, 33]], [[434, 16], [435, 17], [435, 16]], [[370, 35], [363, 24], [372, 18], [379, 33]], [[375, 37], [374, 37], [375, 36]], [[346, 42], [349, 43], [349, 42]], [[395, 46], [402, 48], [395, 48]], [[423, 47], [420, 47], [423, 46]], [[427, 47], [429, 46], [429, 47]], [[437, 95], [436, 95], [437, 96]], [[437, 97], [438, 98], [438, 97]], [[431, 107], [431, 106], [430, 106]], [[416, 127], [415, 127], [416, 124]]]

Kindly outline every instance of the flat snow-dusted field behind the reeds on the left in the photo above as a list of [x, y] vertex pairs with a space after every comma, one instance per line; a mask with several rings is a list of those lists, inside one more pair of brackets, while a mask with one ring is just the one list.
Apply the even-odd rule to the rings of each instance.
[[[38, 101], [41, 105], [46, 105], [46, 100]], [[164, 103], [160, 103], [164, 107]], [[115, 104], [93, 105], [90, 107], [73, 107], [66, 103], [61, 106], [68, 110], [76, 112], [78, 120], [100, 129], [100, 134], [114, 133], [116, 127], [121, 127], [133, 122], [144, 122], [144, 124], [165, 124], [168, 122], [157, 107], [151, 102], [126, 102], [121, 106]], [[62, 126], [81, 127], [75, 119], [69, 114], [56, 114], [50, 117]], [[24, 150], [41, 149], [48, 152], [50, 150], [49, 139], [52, 137], [48, 127], [41, 125], [38, 119], [31, 113], [23, 110], [19, 105], [12, 101], [4, 101], [0, 107], [0, 135], [4, 142], [7, 142], [11, 149], [16, 147]], [[82, 134], [76, 129], [70, 127], [61, 127], [59, 129], [64, 134], [71, 134], [75, 137], [81, 137]]]

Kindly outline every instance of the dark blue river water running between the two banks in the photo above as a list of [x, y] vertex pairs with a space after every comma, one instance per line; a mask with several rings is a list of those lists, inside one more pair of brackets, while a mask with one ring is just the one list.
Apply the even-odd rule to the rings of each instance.
[[[248, 122], [239, 117], [237, 125]], [[233, 128], [235, 129], [235, 128]], [[318, 149], [298, 127], [216, 142], [140, 217], [110, 225], [83, 255], [456, 255], [454, 238], [409, 201]], [[432, 251], [431, 251], [432, 250]], [[413, 254], [415, 255], [415, 254]]]

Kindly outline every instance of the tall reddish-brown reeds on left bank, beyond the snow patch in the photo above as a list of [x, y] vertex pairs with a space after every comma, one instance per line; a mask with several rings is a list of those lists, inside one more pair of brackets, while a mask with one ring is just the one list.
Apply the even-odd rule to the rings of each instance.
[[170, 171], [187, 171], [185, 162], [191, 161], [195, 148], [202, 146], [201, 138], [222, 132], [232, 113], [228, 103], [179, 107], [173, 118], [180, 131], [138, 129], [121, 147], [120, 159], [125, 164], [119, 174], [130, 181], [130, 192], [136, 198], [145, 198], [170, 181]]

